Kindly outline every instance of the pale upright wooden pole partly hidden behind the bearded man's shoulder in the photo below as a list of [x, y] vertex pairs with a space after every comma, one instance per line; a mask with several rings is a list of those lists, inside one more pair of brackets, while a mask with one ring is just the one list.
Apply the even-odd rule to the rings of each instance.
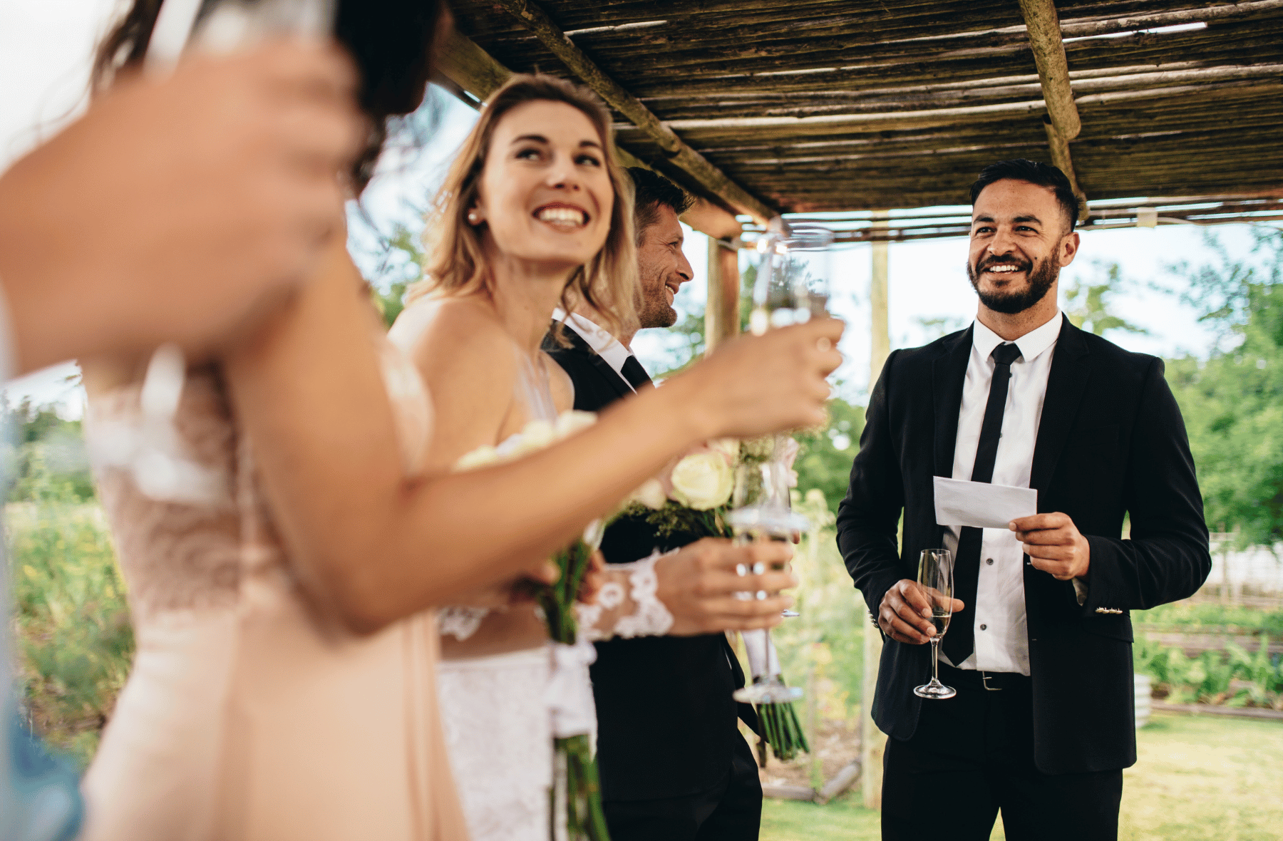
[[[885, 210], [874, 213], [874, 227], [885, 228], [889, 214]], [[889, 244], [885, 240], [872, 242], [872, 273], [869, 282], [869, 391], [881, 374], [881, 368], [890, 355], [890, 324], [887, 301], [887, 269], [889, 263]], [[881, 660], [881, 633], [871, 623], [865, 626], [863, 638], [863, 686], [860, 719], [860, 778], [865, 799], [865, 809], [881, 809], [881, 753], [887, 737], [878, 729], [872, 719], [874, 691], [878, 687], [878, 664]]]

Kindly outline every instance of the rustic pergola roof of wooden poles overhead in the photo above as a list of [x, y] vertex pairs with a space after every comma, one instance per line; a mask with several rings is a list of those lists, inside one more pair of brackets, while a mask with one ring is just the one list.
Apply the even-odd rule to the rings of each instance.
[[966, 204], [1003, 158], [1065, 169], [1089, 226], [1283, 218], [1283, 0], [452, 6], [458, 88], [585, 82], [622, 149], [758, 223], [842, 212], [848, 241], [956, 236], [860, 212]]

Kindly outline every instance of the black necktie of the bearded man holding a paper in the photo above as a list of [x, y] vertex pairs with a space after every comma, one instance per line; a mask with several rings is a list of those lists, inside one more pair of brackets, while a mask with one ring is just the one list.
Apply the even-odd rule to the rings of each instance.
[[[1011, 381], [1011, 363], [1020, 358], [1020, 349], [1006, 342], [993, 349], [993, 381], [989, 383], [989, 401], [984, 404], [984, 422], [980, 424], [980, 442], [975, 447], [973, 482], [992, 482], [993, 463], [998, 458], [998, 438], [1002, 437], [1002, 412], [1007, 408], [1007, 386]], [[949, 632], [940, 646], [953, 665], [971, 655], [975, 649], [975, 590], [980, 581], [980, 544], [984, 529], [962, 527], [958, 553], [953, 562], [953, 595], [966, 608], [955, 613]]]

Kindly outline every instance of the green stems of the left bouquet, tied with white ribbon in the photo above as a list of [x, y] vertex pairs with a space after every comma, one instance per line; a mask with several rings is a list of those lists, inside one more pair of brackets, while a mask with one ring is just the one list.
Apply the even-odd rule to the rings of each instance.
[[[553, 642], [575, 645], [579, 623], [575, 619], [575, 600], [588, 572], [593, 550], [582, 540], [576, 540], [553, 558], [561, 569], [556, 583], [539, 587], [535, 601], [544, 612], [548, 636]], [[609, 841], [606, 813], [602, 810], [602, 783], [597, 776], [597, 762], [588, 735], [554, 738], [553, 747], [566, 767], [566, 832], [571, 841]], [[559, 759], [561, 762], [561, 759]], [[552, 820], [557, 820], [557, 783], [553, 785]], [[553, 831], [549, 837], [556, 838]]]

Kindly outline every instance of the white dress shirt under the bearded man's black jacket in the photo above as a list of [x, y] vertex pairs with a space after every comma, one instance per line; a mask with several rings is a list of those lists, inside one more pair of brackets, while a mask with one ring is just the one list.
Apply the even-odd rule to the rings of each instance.
[[[1060, 310], [1049, 322], [1015, 341], [1020, 359], [1011, 363], [1007, 405], [1002, 413], [1002, 437], [993, 463], [993, 483], [1029, 487], [1034, 444], [1047, 396], [1047, 376], [1062, 323]], [[971, 358], [966, 365], [958, 436], [953, 446], [953, 478], [971, 479], [980, 426], [993, 382], [989, 354], [1002, 337], [981, 324], [973, 324]], [[957, 556], [961, 529], [944, 533], [944, 547]], [[1015, 532], [985, 528], [980, 544], [980, 578], [975, 590], [975, 649], [958, 668], [1029, 674], [1029, 631], [1025, 622], [1024, 550]], [[943, 651], [940, 659], [948, 662]]]

